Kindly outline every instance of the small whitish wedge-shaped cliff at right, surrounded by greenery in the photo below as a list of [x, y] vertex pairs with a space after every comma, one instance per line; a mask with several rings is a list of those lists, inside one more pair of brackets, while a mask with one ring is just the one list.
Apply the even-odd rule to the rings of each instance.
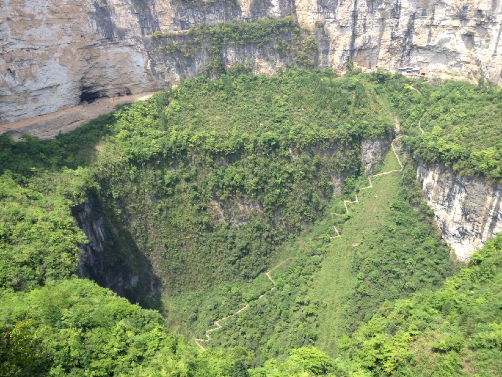
[[443, 238], [457, 256], [468, 259], [489, 237], [502, 231], [502, 185], [481, 178], [457, 177], [443, 165], [419, 164], [428, 205]]

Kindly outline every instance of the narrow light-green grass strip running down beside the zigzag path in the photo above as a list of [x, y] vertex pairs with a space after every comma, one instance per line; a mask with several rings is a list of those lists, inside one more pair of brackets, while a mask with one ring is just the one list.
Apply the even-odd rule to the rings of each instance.
[[[380, 170], [397, 168], [399, 163], [391, 151]], [[357, 282], [352, 267], [353, 255], [367, 252], [368, 241], [378, 237], [379, 228], [389, 223], [392, 216], [389, 204], [398, 198], [400, 174], [395, 172], [372, 178], [373, 188], [359, 192], [359, 203], [348, 204], [350, 218], [337, 226], [342, 236], [331, 240], [331, 252], [314, 277], [312, 296], [324, 304], [319, 314], [317, 340], [323, 348], [332, 348], [336, 339], [346, 331], [343, 305]]]

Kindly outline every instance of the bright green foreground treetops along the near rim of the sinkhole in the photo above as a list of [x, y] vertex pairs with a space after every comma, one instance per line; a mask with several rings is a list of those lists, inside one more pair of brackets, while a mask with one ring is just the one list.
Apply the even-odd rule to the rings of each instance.
[[0, 296], [2, 375], [496, 376], [502, 372], [502, 237], [437, 291], [385, 303], [330, 359], [290, 351], [253, 368], [245, 348], [197, 350], [140, 309], [82, 279]]

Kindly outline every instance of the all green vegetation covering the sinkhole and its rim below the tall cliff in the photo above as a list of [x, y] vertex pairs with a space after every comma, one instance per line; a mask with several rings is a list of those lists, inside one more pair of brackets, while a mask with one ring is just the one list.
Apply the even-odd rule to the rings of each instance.
[[[263, 37], [242, 25], [204, 33]], [[392, 193], [385, 201], [361, 191], [368, 212], [344, 212], [368, 185], [361, 141], [392, 133], [393, 113], [415, 156], [500, 179], [500, 90], [409, 84], [356, 69], [265, 76], [235, 66], [52, 141], [0, 135], [0, 374], [500, 374], [501, 237], [454, 266], [411, 161], [373, 180]], [[105, 257], [155, 264], [161, 312], [75, 278], [85, 237], [71, 209], [90, 197], [113, 246]], [[333, 225], [346, 241], [333, 240]], [[345, 257], [343, 271], [330, 255]], [[262, 272], [283, 257], [270, 291]], [[329, 292], [315, 281], [331, 278], [326, 266], [340, 279]], [[205, 350], [186, 343], [247, 303]], [[336, 326], [334, 340], [320, 318]]]

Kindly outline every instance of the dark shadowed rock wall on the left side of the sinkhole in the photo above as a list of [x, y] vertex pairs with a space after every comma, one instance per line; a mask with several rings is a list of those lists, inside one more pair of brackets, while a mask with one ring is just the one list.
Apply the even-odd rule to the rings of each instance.
[[[88, 240], [80, 246], [78, 276], [94, 280], [133, 303], [156, 306], [155, 301], [160, 297], [159, 279], [147, 258], [134, 252], [134, 242], [130, 242], [126, 250], [114, 245], [113, 240], [118, 237], [105, 225], [95, 199], [74, 207], [72, 212]], [[132, 256], [135, 256], [135, 263], [127, 263], [126, 258]]]

